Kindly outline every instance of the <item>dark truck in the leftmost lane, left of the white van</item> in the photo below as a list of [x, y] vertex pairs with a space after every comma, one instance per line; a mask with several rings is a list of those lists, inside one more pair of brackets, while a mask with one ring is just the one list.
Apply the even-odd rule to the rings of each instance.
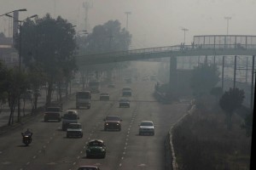
[[61, 122], [62, 103], [52, 102], [45, 105], [44, 122], [57, 121]]

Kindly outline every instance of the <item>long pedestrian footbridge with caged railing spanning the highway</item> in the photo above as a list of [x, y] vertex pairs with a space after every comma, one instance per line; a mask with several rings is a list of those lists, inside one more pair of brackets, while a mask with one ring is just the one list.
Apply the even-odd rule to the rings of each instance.
[[141, 48], [103, 54], [76, 56], [79, 66], [108, 64], [140, 59], [175, 58], [179, 56], [227, 56], [256, 55], [256, 36], [245, 35], [207, 35], [195, 36], [191, 45]]

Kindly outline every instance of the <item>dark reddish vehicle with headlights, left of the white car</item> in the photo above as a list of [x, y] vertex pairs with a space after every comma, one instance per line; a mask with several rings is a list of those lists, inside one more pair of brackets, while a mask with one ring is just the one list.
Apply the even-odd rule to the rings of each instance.
[[121, 117], [116, 115], [109, 115], [103, 120], [104, 123], [104, 130], [121, 130]]

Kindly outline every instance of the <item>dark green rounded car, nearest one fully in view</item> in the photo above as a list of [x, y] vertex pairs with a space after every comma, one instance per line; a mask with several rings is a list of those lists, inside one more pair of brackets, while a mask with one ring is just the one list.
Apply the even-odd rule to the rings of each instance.
[[106, 145], [102, 139], [92, 139], [87, 144], [86, 157], [102, 157], [106, 156]]

